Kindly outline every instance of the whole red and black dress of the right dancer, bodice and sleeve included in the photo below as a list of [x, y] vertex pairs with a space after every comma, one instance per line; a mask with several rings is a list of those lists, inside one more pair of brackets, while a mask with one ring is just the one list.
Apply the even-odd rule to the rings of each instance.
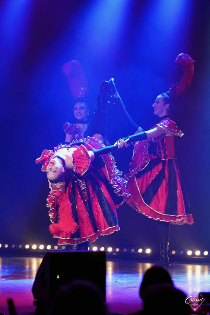
[[[183, 132], [166, 118], [159, 126], [163, 135], [136, 142], [127, 188], [132, 192], [127, 203], [139, 213], [171, 224], [192, 224], [190, 205], [181, 184], [176, 163], [178, 137]], [[172, 136], [164, 135], [164, 130]]]

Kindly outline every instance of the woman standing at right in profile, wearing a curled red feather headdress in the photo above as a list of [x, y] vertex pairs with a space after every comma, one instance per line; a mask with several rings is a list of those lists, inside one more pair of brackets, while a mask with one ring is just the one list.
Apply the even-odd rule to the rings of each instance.
[[[152, 105], [160, 122], [148, 131], [124, 139], [125, 147], [129, 142], [135, 142], [130, 173], [126, 174], [127, 188], [132, 192], [127, 203], [139, 213], [158, 221], [161, 265], [164, 268], [171, 267], [168, 258], [169, 224], [193, 223], [176, 163], [177, 138], [184, 134], [170, 119], [170, 109], [173, 99], [190, 85], [194, 60], [187, 54], [179, 54], [175, 62], [181, 63], [185, 71], [181, 82], [158, 95]], [[122, 103], [114, 82], [111, 85], [111, 94]]]

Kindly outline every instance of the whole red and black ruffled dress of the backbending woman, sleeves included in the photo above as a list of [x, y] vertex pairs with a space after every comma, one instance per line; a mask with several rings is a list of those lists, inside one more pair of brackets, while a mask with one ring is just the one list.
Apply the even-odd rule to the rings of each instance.
[[[47, 198], [52, 222], [49, 230], [58, 238], [59, 245], [94, 242], [99, 235], [119, 230], [116, 208], [130, 196], [127, 180], [116, 168], [111, 153], [90, 161], [88, 151], [104, 147], [101, 142], [94, 137], [85, 139], [84, 145], [74, 142], [73, 147], [77, 148], [72, 156], [74, 169], [67, 173], [65, 183], [59, 183], [57, 188], [50, 184]], [[63, 147], [70, 145], [44, 150], [36, 163], [42, 163], [42, 170], [46, 171], [51, 157]]]

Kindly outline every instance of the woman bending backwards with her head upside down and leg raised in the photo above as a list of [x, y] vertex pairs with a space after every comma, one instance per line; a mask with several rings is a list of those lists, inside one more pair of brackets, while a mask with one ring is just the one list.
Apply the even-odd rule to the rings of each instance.
[[50, 232], [58, 238], [58, 245], [67, 249], [87, 249], [101, 235], [109, 235], [120, 228], [116, 209], [129, 196], [127, 180], [115, 166], [112, 150], [123, 146], [105, 146], [103, 95], [107, 93], [101, 85], [98, 108], [90, 123], [90, 133], [83, 142], [60, 144], [53, 150], [44, 150], [36, 163], [43, 164], [50, 193], [47, 207], [51, 225]]

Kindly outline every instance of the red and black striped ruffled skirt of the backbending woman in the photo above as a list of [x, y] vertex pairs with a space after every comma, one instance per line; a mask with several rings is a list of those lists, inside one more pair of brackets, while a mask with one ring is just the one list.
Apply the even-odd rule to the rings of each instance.
[[[84, 146], [87, 150], [91, 150], [104, 145], [88, 137], [85, 139]], [[82, 165], [82, 160], [79, 162], [80, 165], [76, 165], [79, 157], [75, 158], [76, 171], [81, 169]], [[54, 232], [53, 237], [58, 238], [58, 245], [94, 242], [100, 235], [118, 231], [120, 228], [116, 208], [129, 196], [126, 184], [127, 180], [116, 168], [114, 158], [110, 153], [94, 160], [84, 175], [74, 172], [72, 177], [70, 176], [67, 191], [73, 219], [78, 228], [72, 234], [64, 231]], [[50, 204], [48, 206], [50, 207]], [[60, 223], [59, 210], [58, 205], [51, 206], [49, 209], [53, 224]]]

